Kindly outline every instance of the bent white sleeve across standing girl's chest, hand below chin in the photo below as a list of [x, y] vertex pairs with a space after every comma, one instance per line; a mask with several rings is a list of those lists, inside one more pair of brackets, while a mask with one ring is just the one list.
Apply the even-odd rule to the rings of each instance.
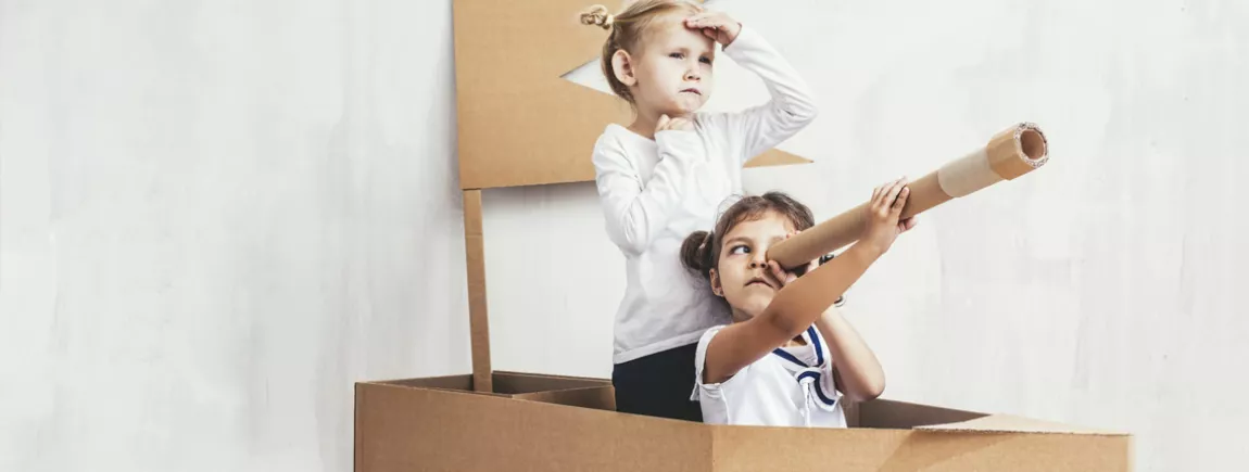
[[618, 140], [600, 139], [595, 146], [595, 182], [607, 234], [627, 253], [646, 251], [687, 197], [689, 176], [707, 167], [694, 131], [659, 131], [654, 141], [659, 160], [644, 181]]

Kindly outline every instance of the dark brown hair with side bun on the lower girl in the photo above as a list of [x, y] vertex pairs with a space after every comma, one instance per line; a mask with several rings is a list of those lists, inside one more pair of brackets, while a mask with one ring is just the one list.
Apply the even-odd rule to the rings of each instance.
[[681, 262], [689, 271], [698, 272], [699, 276], [709, 281], [711, 270], [719, 266], [719, 251], [724, 243], [724, 235], [739, 224], [763, 217], [768, 211], [789, 219], [796, 231], [816, 225], [816, 217], [811, 209], [783, 192], [771, 191], [742, 197], [719, 216], [712, 232], [694, 231], [686, 237], [686, 241], [681, 243]]

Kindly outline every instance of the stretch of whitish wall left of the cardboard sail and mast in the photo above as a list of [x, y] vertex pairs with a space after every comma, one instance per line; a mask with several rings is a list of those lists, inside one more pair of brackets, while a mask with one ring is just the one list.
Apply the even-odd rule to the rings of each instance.
[[450, 2], [0, 1], [0, 471], [350, 471], [467, 372]]

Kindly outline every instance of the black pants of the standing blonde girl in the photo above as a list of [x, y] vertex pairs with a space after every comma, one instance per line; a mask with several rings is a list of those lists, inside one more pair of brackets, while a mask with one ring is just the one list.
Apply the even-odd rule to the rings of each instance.
[[639, 357], [612, 368], [616, 411], [702, 422], [702, 408], [691, 401], [694, 351], [698, 343]]

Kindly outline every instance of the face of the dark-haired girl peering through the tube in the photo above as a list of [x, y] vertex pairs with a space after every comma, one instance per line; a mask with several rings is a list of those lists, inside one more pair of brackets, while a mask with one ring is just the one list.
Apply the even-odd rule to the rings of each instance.
[[716, 295], [728, 301], [734, 321], [753, 318], [772, 303], [781, 283], [772, 277], [763, 256], [792, 231], [793, 222], [788, 217], [769, 210], [724, 234], [719, 262], [711, 271], [711, 285]]

